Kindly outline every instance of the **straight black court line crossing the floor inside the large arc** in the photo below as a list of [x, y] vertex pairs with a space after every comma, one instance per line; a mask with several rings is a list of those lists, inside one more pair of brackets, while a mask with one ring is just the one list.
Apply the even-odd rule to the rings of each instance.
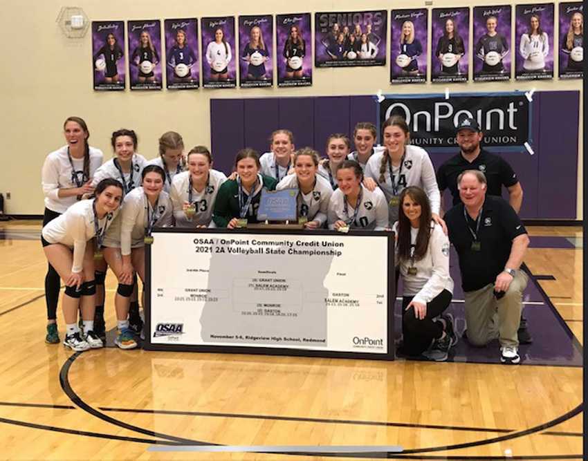
[[243, 413], [211, 413], [203, 411], [172, 411], [172, 410], [138, 410], [134, 408], [109, 408], [100, 406], [102, 411], [117, 411], [122, 413], [149, 413], [155, 415], [181, 415], [181, 416], [211, 416], [211, 417], [232, 417], [246, 420], [270, 420], [270, 421], [295, 421], [295, 422], [315, 422], [327, 424], [356, 424], [358, 426], [386, 426], [386, 427], [412, 427], [422, 429], [447, 429], [449, 431], [472, 431], [472, 432], [492, 432], [492, 433], [509, 433], [515, 429], [487, 429], [481, 427], [463, 427], [463, 426], [440, 426], [437, 424], [411, 424], [403, 422], [380, 422], [365, 420], [331, 420], [324, 418], [295, 417], [295, 416], [275, 416], [275, 415], [246, 415]]

